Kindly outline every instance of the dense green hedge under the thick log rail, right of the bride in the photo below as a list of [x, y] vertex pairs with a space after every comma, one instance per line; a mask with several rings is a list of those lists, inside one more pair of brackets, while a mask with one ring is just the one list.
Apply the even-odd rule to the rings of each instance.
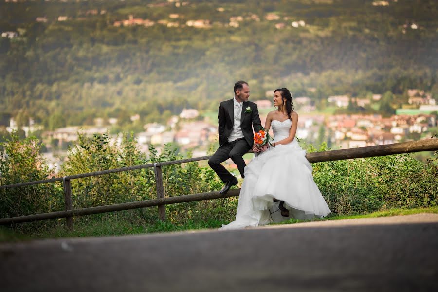
[[313, 164], [313, 176], [330, 209], [340, 214], [438, 204], [437, 159], [424, 163], [403, 154], [320, 162]]

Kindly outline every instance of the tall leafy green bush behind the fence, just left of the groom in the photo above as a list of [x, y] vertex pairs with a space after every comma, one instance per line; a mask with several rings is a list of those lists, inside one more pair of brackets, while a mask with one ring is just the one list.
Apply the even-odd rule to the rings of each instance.
[[[124, 137], [120, 146], [112, 145], [107, 134], [88, 138], [79, 134], [78, 147], [70, 149], [62, 175], [87, 173], [138, 164], [153, 164], [182, 159], [177, 148], [164, 146], [161, 154], [149, 146], [150, 155], [138, 151], [135, 140]], [[217, 190], [222, 183], [210, 168], [198, 162], [163, 166], [164, 196], [172, 197]], [[152, 167], [72, 180], [73, 208], [116, 204], [156, 198], [156, 185]], [[235, 215], [237, 200], [220, 199], [166, 205], [167, 219], [176, 224], [190, 220], [200, 221], [231, 219]], [[144, 208], [123, 213], [138, 224], [153, 224], [157, 220], [156, 208]], [[129, 215], [128, 215], [129, 214]], [[111, 218], [113, 215], [94, 215], [91, 218]], [[118, 216], [120, 218], [120, 216]], [[77, 218], [76, 220], [80, 220]]]

